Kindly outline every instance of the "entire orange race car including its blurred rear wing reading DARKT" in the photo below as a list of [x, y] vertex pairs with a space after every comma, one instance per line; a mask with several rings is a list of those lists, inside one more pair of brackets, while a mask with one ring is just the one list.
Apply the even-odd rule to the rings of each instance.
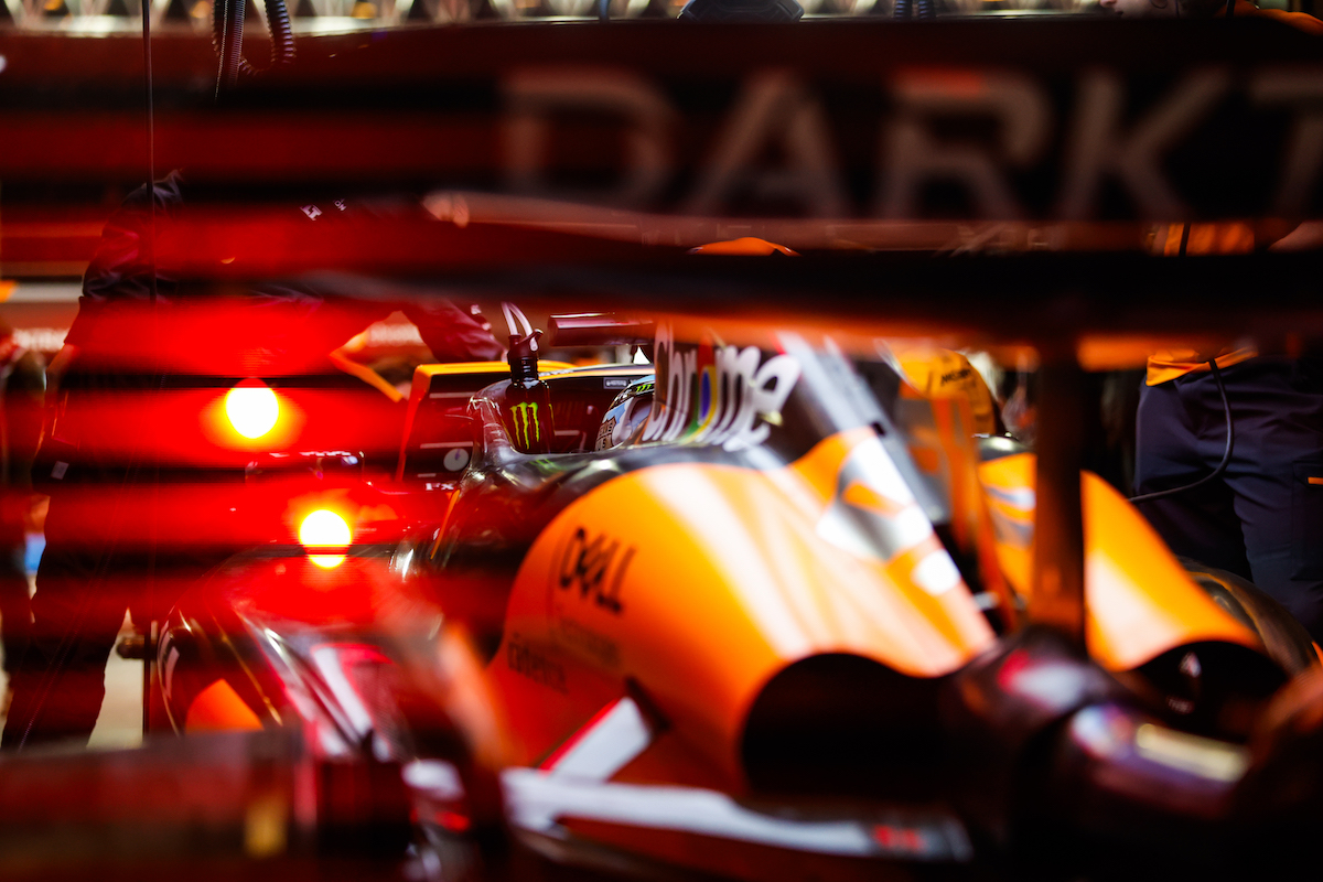
[[[1316, 41], [1241, 15], [478, 24], [329, 34], [296, 62], [271, 0], [254, 77], [242, 0], [216, 13], [214, 81], [205, 38], [157, 38], [155, 75], [149, 38], [4, 41], [7, 239], [69, 229], [49, 221], [70, 206], [99, 226], [144, 172], [144, 194], [168, 169], [196, 188], [144, 200], [147, 312], [102, 315], [132, 383], [97, 406], [179, 409], [97, 415], [85, 435], [130, 465], [85, 484], [143, 489], [142, 517], [89, 510], [146, 525], [148, 584], [157, 547], [224, 562], [142, 644], [147, 750], [0, 763], [0, 874], [159, 852], [181, 858], [135, 879], [232, 878], [214, 852], [359, 878], [286, 875], [308, 833], [407, 854], [410, 879], [1279, 878], [1266, 862], [1312, 858], [1308, 636], [1176, 559], [1070, 443], [976, 439], [967, 402], [918, 394], [863, 329], [1039, 346], [1044, 428], [1081, 422], [1046, 380], [1078, 372], [1086, 332], [1323, 333], [1316, 283], [1287, 284], [1316, 258], [1215, 259], [1192, 234], [1319, 216]], [[684, 254], [730, 230], [841, 254]], [[1155, 250], [1174, 259], [1122, 254]], [[509, 291], [713, 324], [557, 321], [550, 344], [647, 356], [576, 369], [511, 311], [509, 364], [419, 368], [361, 442], [336, 394], [300, 389], [365, 324], [320, 303], [378, 319]], [[202, 295], [238, 319], [172, 335]], [[852, 323], [863, 344], [822, 331]], [[258, 382], [267, 357], [290, 364]], [[205, 488], [148, 480], [171, 476], [156, 460]], [[1082, 583], [1043, 565], [1058, 545]], [[1040, 615], [1066, 595], [1084, 604]]]

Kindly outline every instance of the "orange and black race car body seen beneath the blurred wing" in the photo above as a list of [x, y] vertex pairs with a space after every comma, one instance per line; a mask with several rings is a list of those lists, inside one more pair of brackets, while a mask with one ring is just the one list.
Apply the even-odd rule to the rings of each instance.
[[1265, 721], [1312, 705], [1266, 709], [1320, 668], [1253, 586], [1183, 566], [1085, 475], [1085, 652], [1025, 621], [1033, 455], [971, 438], [960, 401], [826, 337], [601, 327], [652, 364], [532, 370], [545, 419], [504, 365], [421, 368], [390, 491], [407, 538], [302, 497], [302, 545], [176, 607], [157, 723], [299, 725], [398, 764], [435, 878], [480, 830], [808, 879], [1212, 870], [1228, 824], [1270, 822], [1244, 797], [1282, 774]]

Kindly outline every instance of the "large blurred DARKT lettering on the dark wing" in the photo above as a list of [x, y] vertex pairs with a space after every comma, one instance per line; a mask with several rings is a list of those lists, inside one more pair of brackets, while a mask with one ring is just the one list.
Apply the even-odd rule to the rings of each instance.
[[[500, 83], [505, 188], [695, 216], [1089, 221], [1315, 208], [1323, 66], [1267, 63], [1237, 79], [1201, 65], [1158, 83], [1102, 66], [1065, 79], [1066, 100], [1054, 100], [1058, 83], [1015, 69], [910, 67], [844, 103], [811, 77], [754, 69], [714, 131], [695, 138], [658, 78], [523, 69]], [[1253, 135], [1237, 136], [1241, 126]], [[614, 145], [601, 156], [611, 184], [595, 190], [573, 186], [589, 127]], [[687, 140], [697, 141], [688, 155]]]

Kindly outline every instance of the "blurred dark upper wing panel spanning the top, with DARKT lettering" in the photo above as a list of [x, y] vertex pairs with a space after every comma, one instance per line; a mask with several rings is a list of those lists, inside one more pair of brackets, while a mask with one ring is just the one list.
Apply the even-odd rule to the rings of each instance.
[[[183, 168], [194, 198], [404, 189], [871, 222], [1323, 213], [1323, 42], [1266, 20], [306, 36], [292, 71], [224, 110], [209, 41], [159, 44], [156, 169]], [[138, 40], [0, 34], [0, 53], [5, 223], [52, 200], [115, 204], [106, 188], [146, 168]], [[74, 267], [60, 257], [28, 263]]]

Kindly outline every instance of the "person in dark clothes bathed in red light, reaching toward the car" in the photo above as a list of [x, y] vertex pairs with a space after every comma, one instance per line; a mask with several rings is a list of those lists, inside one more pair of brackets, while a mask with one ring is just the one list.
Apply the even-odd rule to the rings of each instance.
[[[455, 305], [372, 280], [247, 284], [202, 299], [175, 280], [169, 246], [160, 245], [171, 241], [184, 202], [183, 176], [159, 181], [153, 196], [159, 259], [153, 263], [147, 251], [144, 186], [107, 222], [83, 278], [78, 316], [52, 362], [58, 415], [33, 469], [50, 495], [46, 549], [32, 600], [32, 644], [13, 676], [0, 741], [7, 750], [86, 742], [124, 611], [140, 627], [163, 618], [233, 551], [206, 540], [234, 464], [229, 472], [191, 464], [169, 447], [197, 424], [196, 407], [173, 403], [205, 382], [197, 374], [280, 374], [298, 382], [333, 373], [328, 353], [396, 309], [418, 325], [441, 361], [503, 353]], [[328, 223], [344, 210], [344, 201], [333, 201], [324, 209], [291, 208], [290, 216], [295, 223]], [[242, 483], [242, 464], [237, 473]]]

